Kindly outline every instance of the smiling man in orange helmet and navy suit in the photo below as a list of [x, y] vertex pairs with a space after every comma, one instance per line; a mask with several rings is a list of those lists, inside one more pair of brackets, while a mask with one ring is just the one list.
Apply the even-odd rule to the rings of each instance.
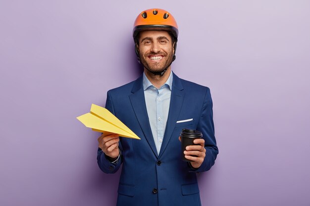
[[[178, 29], [170, 13], [143, 11], [133, 37], [144, 73], [109, 90], [105, 107], [141, 140], [103, 133], [98, 165], [114, 173], [123, 164], [117, 206], [200, 206], [196, 172], [209, 170], [218, 154], [210, 91], [171, 72]], [[203, 133], [184, 152], [190, 163], [181, 160], [183, 128]]]

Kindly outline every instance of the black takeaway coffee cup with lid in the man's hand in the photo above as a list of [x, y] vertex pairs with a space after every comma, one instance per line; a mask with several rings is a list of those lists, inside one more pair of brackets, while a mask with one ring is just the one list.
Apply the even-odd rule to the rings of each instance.
[[194, 144], [194, 139], [200, 139], [203, 137], [201, 131], [192, 130], [192, 129], [182, 129], [180, 134], [181, 136], [181, 145], [182, 145], [182, 160], [185, 162], [193, 162], [192, 160], [188, 160], [185, 158], [184, 151], [185, 148], [189, 145], [199, 145]]

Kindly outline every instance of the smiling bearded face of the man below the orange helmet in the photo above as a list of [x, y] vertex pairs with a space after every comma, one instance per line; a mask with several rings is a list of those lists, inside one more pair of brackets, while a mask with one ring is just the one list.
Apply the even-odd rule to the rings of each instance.
[[139, 33], [141, 63], [150, 72], [162, 72], [172, 62], [174, 53], [171, 36], [166, 31], [142, 31]]

